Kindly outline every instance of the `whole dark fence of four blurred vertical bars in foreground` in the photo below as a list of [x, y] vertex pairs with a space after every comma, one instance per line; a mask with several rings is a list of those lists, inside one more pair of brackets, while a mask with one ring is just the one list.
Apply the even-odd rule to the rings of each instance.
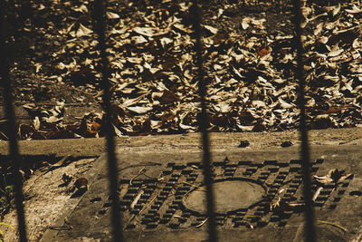
[[[312, 242], [316, 241], [316, 234], [314, 229], [314, 217], [311, 202], [311, 190], [310, 190], [310, 149], [308, 144], [308, 133], [306, 126], [306, 113], [305, 113], [305, 98], [304, 98], [304, 74], [303, 74], [303, 46], [301, 43], [301, 8], [300, 0], [292, 0], [294, 5], [294, 24], [295, 24], [295, 50], [297, 51], [297, 79], [300, 82], [299, 85], [299, 107], [300, 107], [300, 139], [301, 150], [300, 157], [302, 160], [303, 169], [303, 181], [304, 189], [303, 196], [305, 200], [305, 240]], [[26, 2], [26, 1], [25, 1]], [[120, 219], [119, 209], [119, 196], [118, 196], [118, 169], [117, 169], [117, 157], [115, 154], [115, 141], [113, 137], [114, 131], [111, 125], [110, 114], [110, 70], [106, 53], [106, 22], [105, 22], [105, 5], [107, 1], [96, 0], [95, 1], [95, 30], [98, 34], [99, 50], [100, 50], [100, 66], [101, 66], [101, 86], [104, 91], [103, 94], [103, 106], [106, 111], [105, 122], [107, 125], [107, 153], [108, 153], [108, 165], [109, 165], [109, 178], [110, 178], [110, 198], [111, 198], [111, 222], [113, 227], [113, 240], [123, 241], [122, 226]], [[194, 19], [194, 31], [195, 31], [195, 53], [196, 53], [196, 67], [197, 67], [197, 81], [198, 92], [201, 99], [201, 113], [199, 115], [199, 131], [202, 135], [203, 144], [203, 162], [204, 162], [204, 174], [205, 174], [205, 186], [206, 186], [206, 198], [207, 198], [207, 219], [208, 219], [208, 241], [217, 241], [215, 214], [214, 214], [214, 194], [213, 194], [213, 174], [211, 169], [211, 152], [210, 152], [210, 140], [207, 131], [208, 117], [207, 117], [207, 104], [205, 96], [207, 93], [205, 83], [205, 71], [203, 68], [203, 44], [201, 41], [202, 31], [202, 5], [197, 0], [194, 0], [194, 5], [191, 15]], [[16, 140], [16, 127], [15, 127], [15, 115], [12, 100], [12, 87], [9, 78], [9, 62], [7, 59], [7, 36], [6, 36], [6, 13], [5, 13], [5, 1], [0, 3], [0, 75], [2, 87], [4, 89], [5, 98], [5, 111], [8, 125], [9, 134], [9, 146], [10, 146], [10, 158], [14, 161], [14, 176], [18, 177], [15, 180], [15, 204], [17, 210], [18, 229], [20, 235], [20, 241], [27, 241], [26, 227], [24, 219], [24, 206], [23, 206], [23, 179], [19, 172], [19, 151], [18, 143]], [[127, 240], [127, 239], [126, 239]]]

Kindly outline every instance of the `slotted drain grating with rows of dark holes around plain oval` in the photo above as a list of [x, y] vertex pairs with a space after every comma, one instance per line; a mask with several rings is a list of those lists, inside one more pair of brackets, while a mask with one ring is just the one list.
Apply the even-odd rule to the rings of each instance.
[[[324, 160], [310, 164], [315, 175]], [[279, 162], [265, 160], [231, 162], [227, 159], [213, 162], [213, 177], [217, 182], [243, 179], [261, 184], [265, 189], [262, 198], [248, 208], [236, 208], [216, 215], [219, 227], [263, 227], [269, 224], [283, 227], [293, 214], [303, 211], [302, 170], [300, 160]], [[142, 171], [145, 171], [142, 173]], [[148, 176], [146, 169], [139, 169], [133, 179], [120, 181], [119, 193], [126, 229], [182, 229], [202, 227], [207, 218], [197, 210], [186, 208], [185, 198], [203, 188], [203, 165], [200, 162], [186, 164], [167, 163], [157, 178]], [[350, 178], [352, 179], [352, 178]], [[334, 209], [344, 195], [350, 179], [341, 184], [312, 182], [312, 194], [319, 189], [314, 207]], [[243, 198], [240, 198], [243, 199]], [[224, 201], [228, 202], [228, 201]], [[230, 201], [234, 202], [234, 201]]]

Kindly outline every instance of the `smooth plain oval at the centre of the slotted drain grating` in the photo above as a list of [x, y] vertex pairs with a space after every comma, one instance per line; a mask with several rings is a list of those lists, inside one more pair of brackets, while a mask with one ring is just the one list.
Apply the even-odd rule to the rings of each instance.
[[[214, 212], [224, 214], [240, 208], [249, 208], [262, 199], [265, 189], [252, 179], [214, 181]], [[200, 214], [206, 213], [206, 187], [190, 192], [184, 206]]]

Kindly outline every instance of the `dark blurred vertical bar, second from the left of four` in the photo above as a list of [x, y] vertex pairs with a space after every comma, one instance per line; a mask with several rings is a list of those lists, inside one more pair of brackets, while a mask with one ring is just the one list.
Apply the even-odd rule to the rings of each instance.
[[111, 198], [111, 222], [113, 227], [113, 241], [123, 241], [123, 233], [119, 209], [119, 196], [118, 196], [118, 166], [115, 154], [115, 140], [114, 131], [111, 125], [111, 109], [110, 109], [110, 69], [109, 61], [106, 53], [106, 21], [105, 21], [105, 5], [107, 1], [95, 1], [95, 19], [96, 19], [96, 32], [98, 34], [98, 44], [100, 48], [100, 62], [101, 62], [101, 86], [103, 88], [103, 104], [105, 113], [105, 129], [107, 139], [107, 155], [109, 165], [109, 178], [110, 178], [110, 198]]

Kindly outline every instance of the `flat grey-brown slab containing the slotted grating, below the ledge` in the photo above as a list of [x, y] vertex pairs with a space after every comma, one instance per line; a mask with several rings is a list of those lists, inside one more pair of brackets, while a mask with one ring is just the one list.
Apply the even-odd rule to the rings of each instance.
[[[119, 150], [119, 196], [127, 241], [207, 239], [205, 207], [200, 202], [200, 194], [204, 192], [203, 170], [200, 153], [193, 151]], [[250, 201], [243, 196], [243, 191], [239, 198], [233, 193], [226, 193], [222, 198], [216, 194], [220, 241], [302, 241], [304, 220], [298, 159], [296, 148], [214, 152], [215, 184], [224, 186], [223, 189], [232, 186], [235, 193], [249, 187], [252, 189], [244, 194], [254, 192], [252, 195], [256, 197]], [[312, 147], [312, 160], [313, 175], [324, 176], [330, 169], [345, 170], [344, 175], [353, 174], [337, 185], [313, 179], [319, 241], [360, 241], [362, 146]], [[98, 162], [102, 168], [90, 179], [89, 190], [75, 208], [64, 209], [58, 218], [59, 224], [55, 224], [71, 226], [71, 229], [48, 229], [42, 241], [110, 241], [105, 156]], [[64, 218], [67, 218], [66, 224]]]

